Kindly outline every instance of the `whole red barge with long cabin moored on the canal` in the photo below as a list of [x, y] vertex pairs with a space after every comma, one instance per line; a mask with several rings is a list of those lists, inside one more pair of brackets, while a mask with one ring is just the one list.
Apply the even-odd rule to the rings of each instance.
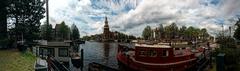
[[168, 43], [135, 44], [133, 48], [119, 44], [117, 60], [134, 71], [191, 71], [203, 51]]

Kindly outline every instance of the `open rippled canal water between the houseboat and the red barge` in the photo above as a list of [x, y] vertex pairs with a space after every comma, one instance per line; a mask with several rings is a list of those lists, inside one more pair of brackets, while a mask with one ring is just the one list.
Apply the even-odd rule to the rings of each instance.
[[86, 41], [80, 48], [84, 50], [84, 71], [88, 70], [88, 64], [100, 63], [111, 68], [118, 69], [116, 54], [118, 43], [104, 43]]

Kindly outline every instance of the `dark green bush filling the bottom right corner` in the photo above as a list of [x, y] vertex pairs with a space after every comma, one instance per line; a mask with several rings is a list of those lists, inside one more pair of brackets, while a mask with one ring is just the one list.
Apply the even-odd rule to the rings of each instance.
[[236, 48], [234, 39], [219, 33], [217, 43], [220, 48], [216, 49], [215, 55], [225, 53], [224, 64], [226, 65], [226, 71], [239, 71], [240, 49]]

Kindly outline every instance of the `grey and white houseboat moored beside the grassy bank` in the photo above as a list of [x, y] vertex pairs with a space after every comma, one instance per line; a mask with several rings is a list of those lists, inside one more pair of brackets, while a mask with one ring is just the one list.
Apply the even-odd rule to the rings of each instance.
[[[39, 46], [33, 48], [33, 52], [39, 57], [35, 63], [37, 71], [43, 69], [43, 67], [46, 69], [49, 65], [53, 65], [50, 66], [53, 68], [52, 70], [79, 70], [82, 59], [77, 51], [78, 49], [73, 47], [70, 40], [51, 42], [41, 40], [38, 42]], [[74, 49], [75, 51], [73, 51]]]

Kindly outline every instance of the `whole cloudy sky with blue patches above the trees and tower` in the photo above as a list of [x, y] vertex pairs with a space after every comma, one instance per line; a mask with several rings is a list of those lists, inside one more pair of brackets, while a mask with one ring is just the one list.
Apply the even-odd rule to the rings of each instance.
[[[141, 36], [152, 28], [176, 23], [206, 28], [216, 35], [233, 27], [240, 17], [240, 0], [49, 0], [49, 22], [75, 24], [80, 35], [103, 32], [108, 17], [110, 31]], [[46, 18], [41, 22], [46, 21]]]

